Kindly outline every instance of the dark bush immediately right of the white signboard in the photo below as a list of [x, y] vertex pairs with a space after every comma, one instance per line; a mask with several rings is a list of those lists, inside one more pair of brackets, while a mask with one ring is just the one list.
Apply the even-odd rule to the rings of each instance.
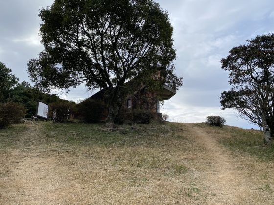
[[65, 120], [70, 119], [71, 113], [74, 111], [75, 105], [70, 102], [59, 102], [49, 104], [49, 117], [53, 117], [53, 113], [56, 113], [56, 116], [53, 118], [53, 121], [56, 123], [63, 123]]

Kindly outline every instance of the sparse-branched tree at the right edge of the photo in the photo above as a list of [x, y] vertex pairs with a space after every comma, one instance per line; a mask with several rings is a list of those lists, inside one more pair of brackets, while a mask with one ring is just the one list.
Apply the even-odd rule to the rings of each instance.
[[222, 108], [235, 109], [242, 118], [262, 127], [269, 144], [269, 132], [274, 136], [274, 34], [234, 47], [221, 63], [230, 72], [232, 86], [220, 97]]

